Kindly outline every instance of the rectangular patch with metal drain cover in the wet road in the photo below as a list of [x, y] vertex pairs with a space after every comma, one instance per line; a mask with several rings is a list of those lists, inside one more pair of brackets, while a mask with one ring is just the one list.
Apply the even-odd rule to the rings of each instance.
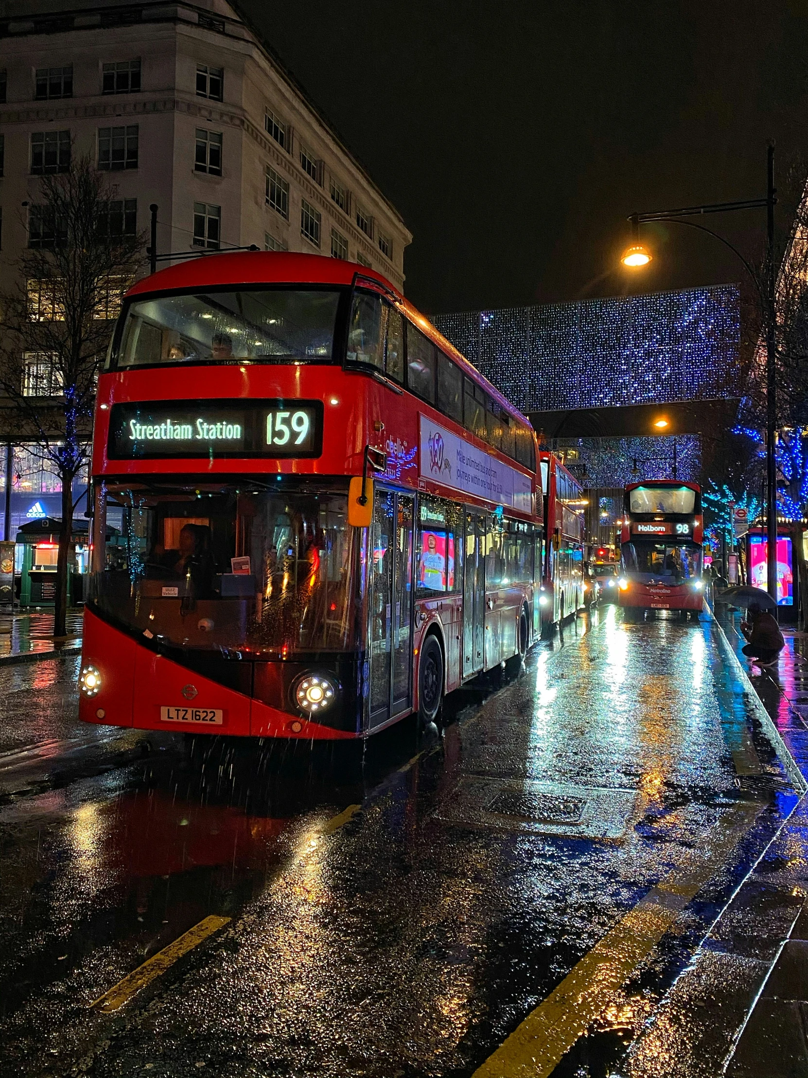
[[636, 790], [464, 775], [435, 818], [461, 827], [616, 842], [625, 834], [637, 798]]

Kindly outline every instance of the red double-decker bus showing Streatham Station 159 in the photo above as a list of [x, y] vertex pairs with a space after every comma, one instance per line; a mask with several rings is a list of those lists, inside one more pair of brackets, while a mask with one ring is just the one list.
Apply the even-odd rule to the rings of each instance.
[[141, 280], [94, 438], [88, 722], [361, 737], [538, 635], [532, 428], [370, 270]]

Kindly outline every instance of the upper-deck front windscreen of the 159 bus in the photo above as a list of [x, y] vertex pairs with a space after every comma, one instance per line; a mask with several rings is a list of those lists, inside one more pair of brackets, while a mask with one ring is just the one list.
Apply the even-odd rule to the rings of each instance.
[[339, 296], [277, 288], [137, 300], [112, 365], [330, 362]]

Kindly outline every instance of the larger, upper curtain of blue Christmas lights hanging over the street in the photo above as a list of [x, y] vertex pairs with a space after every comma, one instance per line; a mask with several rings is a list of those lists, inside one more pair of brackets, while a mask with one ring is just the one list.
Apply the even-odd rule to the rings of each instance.
[[739, 395], [735, 285], [433, 321], [523, 412]]

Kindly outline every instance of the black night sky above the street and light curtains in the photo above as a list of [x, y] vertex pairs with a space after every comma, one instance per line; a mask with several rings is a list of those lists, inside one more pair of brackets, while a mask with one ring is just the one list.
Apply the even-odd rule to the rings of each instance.
[[[626, 216], [763, 196], [778, 225], [808, 156], [808, 3], [797, 0], [273, 4], [241, 0], [414, 234], [423, 310], [740, 280], [716, 240]], [[762, 252], [765, 210], [713, 217]]]

